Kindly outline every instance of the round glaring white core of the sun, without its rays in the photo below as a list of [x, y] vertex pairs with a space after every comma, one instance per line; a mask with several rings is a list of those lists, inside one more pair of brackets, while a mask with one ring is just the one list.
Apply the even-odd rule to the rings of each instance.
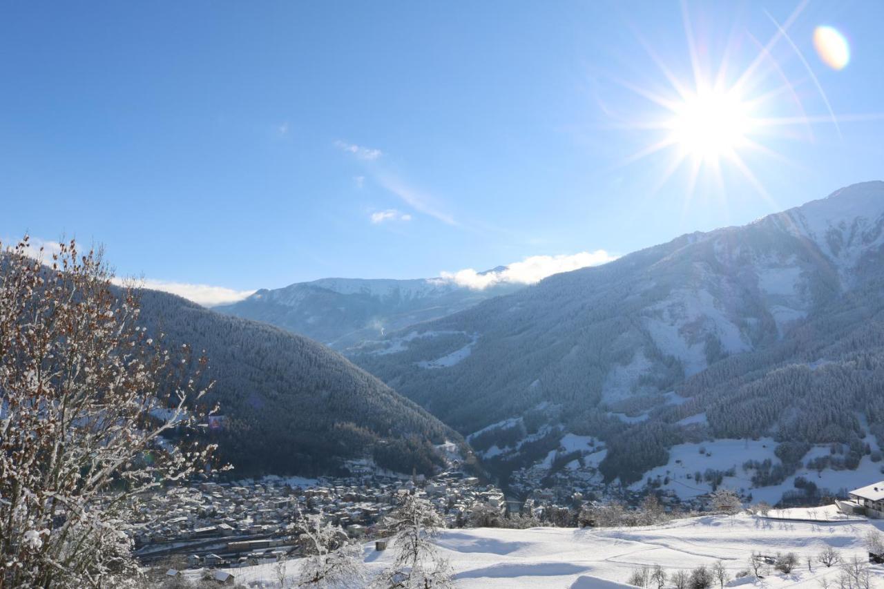
[[682, 157], [718, 164], [749, 144], [753, 123], [749, 103], [734, 90], [698, 88], [674, 104], [668, 127]]

